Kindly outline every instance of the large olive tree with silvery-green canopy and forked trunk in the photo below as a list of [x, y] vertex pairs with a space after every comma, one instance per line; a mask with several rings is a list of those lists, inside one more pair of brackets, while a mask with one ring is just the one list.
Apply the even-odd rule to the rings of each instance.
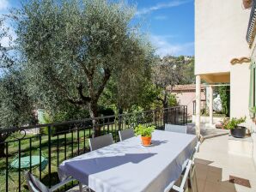
[[97, 117], [110, 78], [146, 73], [153, 56], [131, 25], [134, 13], [125, 3], [105, 0], [32, 0], [13, 11], [31, 95], [51, 110], [68, 102]]

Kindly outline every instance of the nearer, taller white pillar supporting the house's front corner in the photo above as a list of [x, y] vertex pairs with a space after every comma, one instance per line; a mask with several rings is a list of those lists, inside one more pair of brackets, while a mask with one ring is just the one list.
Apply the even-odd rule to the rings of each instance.
[[196, 135], [200, 136], [200, 115], [201, 115], [201, 77], [196, 76]]

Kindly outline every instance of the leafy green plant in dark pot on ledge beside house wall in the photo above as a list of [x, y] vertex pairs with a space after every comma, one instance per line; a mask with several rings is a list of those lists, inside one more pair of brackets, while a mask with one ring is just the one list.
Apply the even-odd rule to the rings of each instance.
[[243, 138], [247, 133], [247, 128], [239, 126], [240, 123], [246, 122], [246, 117], [225, 119], [223, 123], [224, 129], [230, 129], [232, 136], [236, 138]]

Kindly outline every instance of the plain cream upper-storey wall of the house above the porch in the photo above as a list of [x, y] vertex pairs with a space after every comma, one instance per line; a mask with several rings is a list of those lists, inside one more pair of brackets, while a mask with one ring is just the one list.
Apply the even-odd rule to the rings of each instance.
[[250, 10], [241, 0], [195, 0], [195, 75], [229, 73], [230, 61], [248, 57]]

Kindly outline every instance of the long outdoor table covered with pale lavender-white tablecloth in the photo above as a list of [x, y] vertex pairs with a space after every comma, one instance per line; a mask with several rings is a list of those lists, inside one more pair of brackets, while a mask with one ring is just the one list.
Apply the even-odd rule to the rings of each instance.
[[65, 160], [58, 176], [74, 177], [96, 192], [163, 191], [180, 177], [196, 143], [195, 135], [155, 130], [150, 147], [132, 137]]

